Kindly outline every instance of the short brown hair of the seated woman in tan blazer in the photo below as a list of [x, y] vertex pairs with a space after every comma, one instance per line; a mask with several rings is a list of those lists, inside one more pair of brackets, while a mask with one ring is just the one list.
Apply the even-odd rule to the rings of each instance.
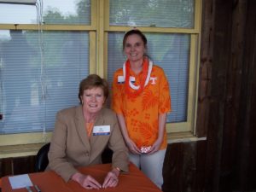
[[102, 88], [105, 98], [108, 98], [108, 81], [102, 79], [97, 74], [90, 74], [87, 78], [83, 79], [79, 84], [79, 101], [81, 102], [81, 96], [84, 94], [84, 90], [90, 90], [92, 88]]

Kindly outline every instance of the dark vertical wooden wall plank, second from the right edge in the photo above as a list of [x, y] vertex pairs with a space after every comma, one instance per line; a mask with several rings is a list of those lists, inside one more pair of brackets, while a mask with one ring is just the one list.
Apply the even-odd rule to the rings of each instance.
[[246, 1], [233, 1], [230, 33], [230, 59], [227, 70], [227, 90], [224, 108], [224, 142], [222, 144], [219, 191], [233, 191], [233, 174], [236, 160], [237, 123], [240, 113], [241, 68], [244, 55]]

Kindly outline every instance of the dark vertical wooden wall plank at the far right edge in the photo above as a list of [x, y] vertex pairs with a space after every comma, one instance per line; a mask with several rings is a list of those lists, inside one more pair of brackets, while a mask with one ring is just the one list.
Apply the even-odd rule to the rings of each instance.
[[256, 2], [247, 0], [246, 43], [242, 65], [241, 109], [237, 125], [236, 189], [256, 190]]

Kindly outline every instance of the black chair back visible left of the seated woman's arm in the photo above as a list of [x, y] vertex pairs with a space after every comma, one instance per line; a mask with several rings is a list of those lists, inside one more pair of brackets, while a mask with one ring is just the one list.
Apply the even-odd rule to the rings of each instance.
[[44, 172], [46, 166], [48, 166], [48, 152], [49, 152], [50, 143], [44, 144], [42, 148], [38, 150], [38, 154], [36, 155], [36, 172]]

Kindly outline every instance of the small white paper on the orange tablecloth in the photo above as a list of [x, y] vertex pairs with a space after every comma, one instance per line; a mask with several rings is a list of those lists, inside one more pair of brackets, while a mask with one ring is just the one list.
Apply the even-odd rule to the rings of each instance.
[[9, 183], [12, 189], [26, 188], [26, 186], [33, 185], [27, 174], [9, 177]]

